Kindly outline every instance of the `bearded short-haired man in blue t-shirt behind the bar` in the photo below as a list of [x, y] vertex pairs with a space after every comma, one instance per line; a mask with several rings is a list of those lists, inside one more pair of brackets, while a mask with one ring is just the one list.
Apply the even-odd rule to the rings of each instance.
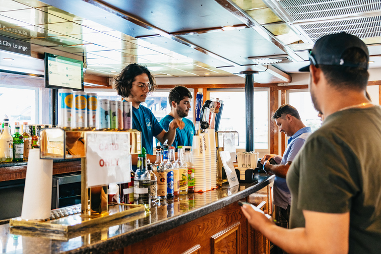
[[191, 120], [187, 119], [189, 110], [191, 109], [192, 94], [185, 86], [175, 86], [171, 89], [168, 96], [168, 102], [171, 106], [171, 112], [160, 120], [160, 125], [168, 130], [169, 124], [177, 119], [184, 122], [183, 129], [176, 130], [175, 140], [172, 146], [192, 146], [194, 125]]

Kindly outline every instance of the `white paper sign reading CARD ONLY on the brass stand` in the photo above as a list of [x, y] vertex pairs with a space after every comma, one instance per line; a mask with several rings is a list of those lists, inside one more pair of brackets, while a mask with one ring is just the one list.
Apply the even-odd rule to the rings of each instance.
[[130, 182], [129, 149], [129, 133], [88, 132], [86, 187]]

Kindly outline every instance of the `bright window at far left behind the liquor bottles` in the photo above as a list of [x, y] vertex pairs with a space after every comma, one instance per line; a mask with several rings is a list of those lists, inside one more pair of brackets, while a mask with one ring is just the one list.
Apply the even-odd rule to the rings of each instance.
[[14, 122], [52, 124], [51, 94], [43, 77], [0, 72], [0, 122], [7, 115], [12, 133]]

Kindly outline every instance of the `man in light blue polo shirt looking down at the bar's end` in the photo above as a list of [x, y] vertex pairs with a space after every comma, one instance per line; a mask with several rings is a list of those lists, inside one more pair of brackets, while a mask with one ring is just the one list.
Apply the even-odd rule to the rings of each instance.
[[[280, 106], [272, 116], [279, 131], [284, 132], [288, 137], [287, 148], [283, 153], [283, 157], [276, 154], [266, 154], [261, 159], [263, 169], [271, 175], [275, 175], [274, 181], [274, 205], [275, 219], [284, 228], [288, 228], [291, 193], [286, 184], [286, 174], [298, 154], [306, 142], [307, 137], [311, 134], [311, 128], [306, 127], [300, 119], [299, 113], [293, 106], [284, 104]], [[278, 165], [272, 165], [268, 160], [273, 158]], [[278, 254], [285, 254], [284, 251], [275, 247]]]

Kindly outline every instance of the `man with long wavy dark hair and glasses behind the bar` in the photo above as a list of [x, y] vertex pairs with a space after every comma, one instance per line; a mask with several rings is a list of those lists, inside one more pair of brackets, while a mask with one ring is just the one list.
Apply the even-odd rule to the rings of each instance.
[[[148, 93], [154, 91], [155, 80], [151, 72], [142, 65], [128, 64], [122, 72], [115, 77], [113, 88], [125, 101], [132, 102], [132, 128], [141, 131], [141, 147], [147, 151], [147, 159], [152, 162], [156, 157], [153, 154], [153, 137], [164, 143], [172, 144], [176, 129], [184, 128], [184, 122], [174, 119], [168, 131], [159, 124], [152, 112], [140, 105], [145, 102]], [[132, 155], [132, 165], [137, 164], [137, 155]]]

